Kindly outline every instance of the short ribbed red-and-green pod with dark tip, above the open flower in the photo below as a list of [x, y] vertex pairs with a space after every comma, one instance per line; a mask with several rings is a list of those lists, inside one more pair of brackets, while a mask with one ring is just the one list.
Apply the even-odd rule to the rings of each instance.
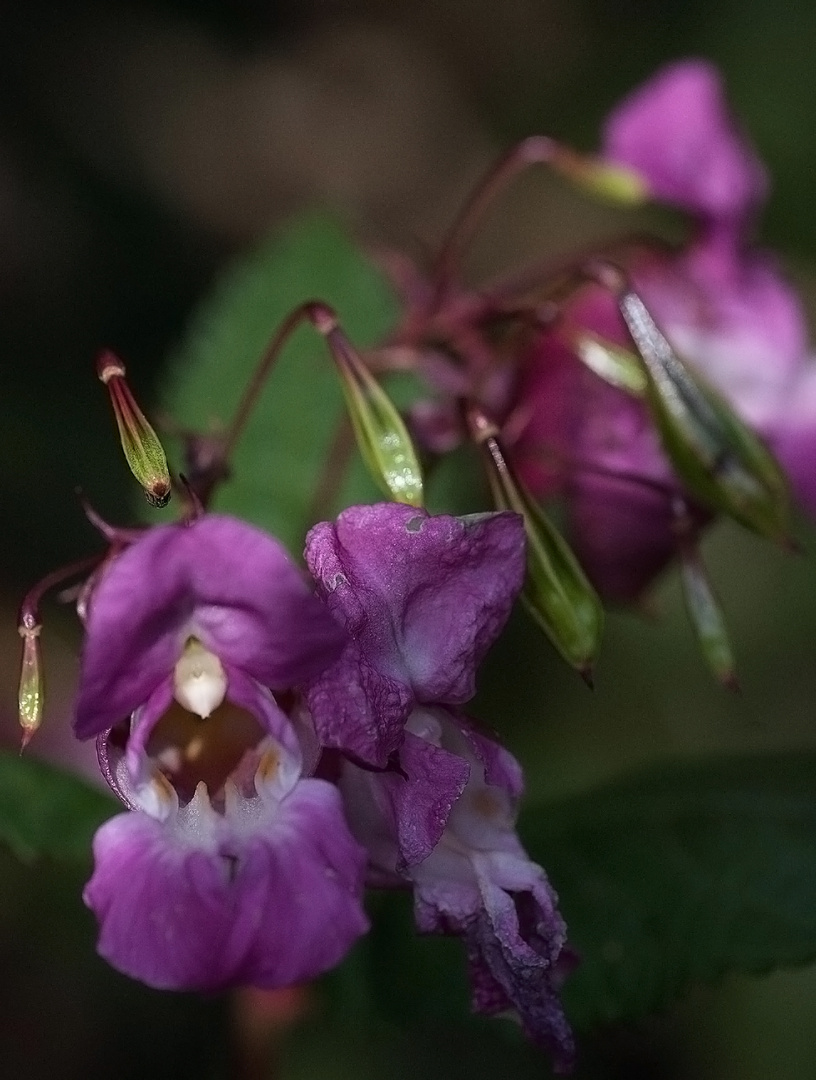
[[167, 458], [159, 436], [131, 393], [125, 366], [112, 352], [103, 352], [96, 364], [99, 380], [110, 394], [122, 449], [131, 472], [141, 485], [148, 502], [166, 507], [171, 497]]

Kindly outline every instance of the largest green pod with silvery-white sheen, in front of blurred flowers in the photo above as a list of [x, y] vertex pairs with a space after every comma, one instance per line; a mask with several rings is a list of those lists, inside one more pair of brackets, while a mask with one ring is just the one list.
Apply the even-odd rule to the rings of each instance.
[[618, 306], [643, 359], [647, 399], [678, 475], [707, 505], [787, 543], [787, 486], [771, 451], [691, 375], [637, 294], [621, 291]]

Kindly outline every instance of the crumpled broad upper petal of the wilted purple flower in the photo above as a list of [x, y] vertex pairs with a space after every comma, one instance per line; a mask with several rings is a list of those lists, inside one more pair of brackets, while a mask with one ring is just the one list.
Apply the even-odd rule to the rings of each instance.
[[[305, 557], [319, 594], [355, 643], [339, 674], [329, 670], [310, 692], [315, 726], [327, 744], [353, 747], [382, 766], [414, 702], [473, 697], [476, 666], [523, 581], [521, 519], [432, 517], [395, 503], [352, 507], [311, 530]], [[334, 692], [338, 683], [351, 692], [354, 667], [363, 673], [362, 723], [358, 703], [346, 706], [351, 699]]]

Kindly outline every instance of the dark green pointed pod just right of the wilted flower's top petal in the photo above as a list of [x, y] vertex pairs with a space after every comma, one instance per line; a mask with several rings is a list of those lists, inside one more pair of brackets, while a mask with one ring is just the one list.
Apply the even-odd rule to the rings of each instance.
[[474, 407], [468, 409], [467, 420], [485, 454], [497, 505], [520, 514], [525, 522], [525, 606], [563, 659], [591, 684], [591, 666], [603, 630], [600, 599], [567, 541], [513, 474], [497, 437], [498, 429]]

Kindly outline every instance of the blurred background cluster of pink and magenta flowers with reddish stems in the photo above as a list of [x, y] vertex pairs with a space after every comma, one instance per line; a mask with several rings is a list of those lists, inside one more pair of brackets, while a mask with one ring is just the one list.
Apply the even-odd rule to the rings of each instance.
[[[690, 220], [690, 238], [678, 248], [627, 237], [594, 258], [464, 288], [453, 271], [476, 218], [531, 163], [618, 200], [675, 207]], [[750, 240], [766, 188], [716, 69], [683, 60], [613, 110], [598, 156], [544, 137], [511, 151], [460, 216], [430, 279], [394, 264], [406, 313], [379, 362], [412, 367], [432, 390], [411, 414], [418, 442], [426, 453], [447, 453], [468, 434], [459, 403], [477, 402], [520, 481], [539, 500], [565, 504], [581, 566], [607, 599], [638, 599], [723, 507], [690, 487], [667, 453], [649, 395], [635, 384], [644, 377], [642, 350], [609, 275], [599, 280], [603, 260], [642, 301], [689, 377], [719, 392], [765, 441], [795, 496], [816, 512], [816, 365], [794, 291]], [[615, 357], [626, 355], [623, 377]], [[705, 428], [706, 416], [693, 419]], [[719, 437], [709, 446], [711, 472], [733, 449]]]

